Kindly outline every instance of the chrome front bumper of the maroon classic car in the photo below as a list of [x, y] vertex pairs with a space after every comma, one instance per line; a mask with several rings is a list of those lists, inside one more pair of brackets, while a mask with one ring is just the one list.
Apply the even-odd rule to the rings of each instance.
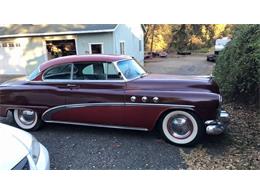
[[210, 135], [219, 135], [223, 133], [229, 124], [229, 114], [221, 110], [217, 120], [208, 120], [205, 122], [206, 133]]

